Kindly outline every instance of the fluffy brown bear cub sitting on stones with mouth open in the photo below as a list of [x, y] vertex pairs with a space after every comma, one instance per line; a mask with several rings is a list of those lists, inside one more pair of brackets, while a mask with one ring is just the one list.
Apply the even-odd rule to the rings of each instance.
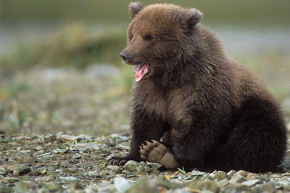
[[227, 58], [220, 41], [198, 24], [202, 13], [139, 2], [129, 12], [120, 56], [136, 66], [131, 147], [128, 156], [107, 163], [277, 171], [287, 143], [282, 111], [259, 79]]

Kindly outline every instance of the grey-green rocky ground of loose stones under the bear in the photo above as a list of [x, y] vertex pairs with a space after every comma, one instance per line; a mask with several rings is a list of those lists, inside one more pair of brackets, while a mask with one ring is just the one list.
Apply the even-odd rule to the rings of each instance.
[[[163, 170], [156, 163], [129, 161], [107, 166], [111, 156], [129, 151], [130, 137], [93, 138], [62, 133], [34, 137], [1, 135], [0, 192], [289, 192], [290, 152], [283, 173], [254, 174]], [[289, 147], [290, 149], [290, 147]]]

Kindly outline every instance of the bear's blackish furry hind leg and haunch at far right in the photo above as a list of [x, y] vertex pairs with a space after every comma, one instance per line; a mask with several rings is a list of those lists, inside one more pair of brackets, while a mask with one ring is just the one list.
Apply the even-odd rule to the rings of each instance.
[[235, 170], [276, 172], [287, 144], [282, 112], [268, 100], [252, 99], [245, 104], [225, 145], [224, 156], [233, 159]]

